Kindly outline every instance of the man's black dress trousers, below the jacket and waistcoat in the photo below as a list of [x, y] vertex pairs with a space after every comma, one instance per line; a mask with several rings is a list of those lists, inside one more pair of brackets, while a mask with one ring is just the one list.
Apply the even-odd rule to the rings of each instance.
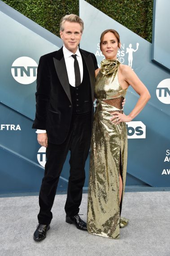
[[47, 162], [39, 192], [39, 224], [48, 225], [52, 220], [51, 209], [59, 177], [69, 150], [70, 177], [65, 212], [67, 216], [75, 216], [79, 212], [85, 181], [84, 167], [91, 142], [91, 118], [91, 113], [72, 115], [70, 130], [66, 140], [60, 145], [48, 142], [46, 150]]

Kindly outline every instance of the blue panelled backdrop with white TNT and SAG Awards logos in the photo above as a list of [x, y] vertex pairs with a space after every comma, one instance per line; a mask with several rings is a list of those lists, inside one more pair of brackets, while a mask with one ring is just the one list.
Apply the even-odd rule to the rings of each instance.
[[[170, 1], [154, 0], [153, 44], [109, 18], [84, 0], [79, 15], [84, 21], [82, 49], [96, 55], [100, 34], [117, 30], [121, 37], [118, 57], [147, 86], [151, 100], [128, 128], [126, 185], [170, 186]], [[64, 13], [63, 13], [64, 15]], [[35, 117], [36, 73], [39, 57], [56, 51], [62, 40], [0, 1], [0, 193], [39, 191], [44, 176], [45, 148], [31, 129]], [[128, 89], [125, 113], [138, 95]], [[58, 191], [66, 190], [68, 154]], [[88, 186], [89, 157], [85, 188]]]

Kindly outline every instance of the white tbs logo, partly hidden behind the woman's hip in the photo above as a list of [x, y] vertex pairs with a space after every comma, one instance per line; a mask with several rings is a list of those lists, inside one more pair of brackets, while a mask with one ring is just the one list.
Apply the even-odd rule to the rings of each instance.
[[127, 122], [127, 138], [128, 139], [145, 139], [146, 125], [141, 121]]

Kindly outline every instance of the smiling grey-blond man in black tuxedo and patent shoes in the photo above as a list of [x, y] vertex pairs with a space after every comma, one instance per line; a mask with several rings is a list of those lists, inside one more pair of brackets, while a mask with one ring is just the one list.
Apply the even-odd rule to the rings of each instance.
[[70, 150], [70, 177], [65, 203], [66, 222], [87, 230], [78, 215], [85, 181], [95, 86], [96, 57], [78, 44], [83, 21], [77, 15], [65, 15], [60, 23], [63, 47], [39, 60], [37, 71], [36, 114], [33, 128], [41, 146], [47, 147], [47, 162], [39, 192], [39, 225], [34, 240], [46, 238], [52, 220], [58, 180]]

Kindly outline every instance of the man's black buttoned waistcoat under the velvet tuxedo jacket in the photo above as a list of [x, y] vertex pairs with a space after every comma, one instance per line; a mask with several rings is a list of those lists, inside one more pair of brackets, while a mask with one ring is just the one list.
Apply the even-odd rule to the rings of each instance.
[[73, 87], [70, 85], [71, 101], [73, 106], [73, 115], [85, 114], [92, 111], [92, 95], [90, 87], [90, 78], [86, 63], [83, 61], [83, 80], [82, 83]]

